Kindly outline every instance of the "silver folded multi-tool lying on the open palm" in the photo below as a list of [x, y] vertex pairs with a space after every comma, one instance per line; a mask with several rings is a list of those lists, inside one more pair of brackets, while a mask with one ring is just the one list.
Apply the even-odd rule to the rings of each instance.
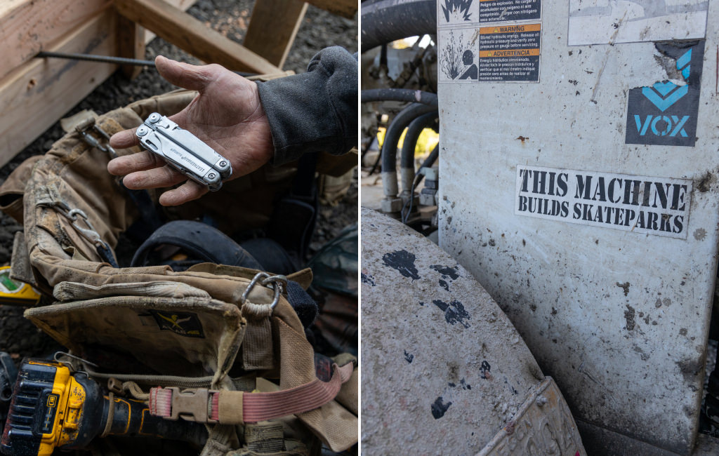
[[216, 191], [232, 175], [232, 165], [197, 136], [158, 113], [152, 113], [135, 132], [145, 149], [165, 159], [192, 180]]

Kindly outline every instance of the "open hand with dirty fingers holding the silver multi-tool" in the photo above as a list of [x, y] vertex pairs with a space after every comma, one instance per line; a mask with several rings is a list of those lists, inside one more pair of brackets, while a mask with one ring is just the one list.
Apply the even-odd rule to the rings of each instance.
[[[255, 171], [272, 159], [275, 149], [270, 124], [255, 83], [220, 65], [189, 65], [162, 56], [155, 58], [155, 65], [168, 82], [198, 90], [186, 108], [169, 118], [229, 159], [230, 180]], [[112, 135], [110, 145], [116, 149], [139, 145], [135, 130]], [[171, 187], [186, 181], [160, 195], [160, 204], [165, 206], [196, 200], [208, 192], [147, 150], [112, 159], [107, 170], [111, 175], [124, 175], [122, 182], [129, 189]]]

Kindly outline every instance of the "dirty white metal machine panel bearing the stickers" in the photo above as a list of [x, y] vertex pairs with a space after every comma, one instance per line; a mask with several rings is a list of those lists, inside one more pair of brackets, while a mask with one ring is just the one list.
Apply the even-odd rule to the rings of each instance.
[[539, 83], [440, 83], [440, 246], [497, 300], [577, 419], [687, 454], [717, 266], [719, 29], [696, 44], [568, 46], [568, 14], [567, 1], [542, 4]]

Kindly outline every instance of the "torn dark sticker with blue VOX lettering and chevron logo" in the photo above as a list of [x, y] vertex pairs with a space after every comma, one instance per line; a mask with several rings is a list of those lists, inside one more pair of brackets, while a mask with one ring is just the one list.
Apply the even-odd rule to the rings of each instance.
[[704, 43], [656, 43], [663, 57], [676, 61], [677, 79], [629, 90], [626, 144], [695, 145]]

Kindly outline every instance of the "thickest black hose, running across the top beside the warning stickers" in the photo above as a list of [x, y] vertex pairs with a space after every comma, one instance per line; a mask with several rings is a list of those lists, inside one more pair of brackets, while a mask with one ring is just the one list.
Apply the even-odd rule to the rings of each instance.
[[395, 39], [437, 32], [436, 0], [362, 2], [362, 52]]

